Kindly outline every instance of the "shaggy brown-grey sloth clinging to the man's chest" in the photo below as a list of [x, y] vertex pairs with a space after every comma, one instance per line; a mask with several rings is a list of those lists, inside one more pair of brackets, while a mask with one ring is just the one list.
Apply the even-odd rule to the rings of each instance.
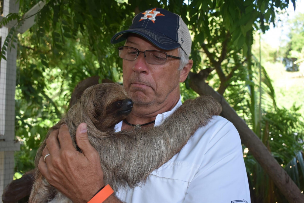
[[[199, 127], [207, 125], [212, 116], [219, 115], [222, 110], [211, 96], [200, 96], [185, 101], [159, 126], [115, 132], [115, 125], [128, 116], [132, 107], [132, 100], [120, 84], [91, 86], [59, 123], [50, 128], [46, 139], [66, 123], [74, 147], [80, 151], [76, 144], [76, 129], [80, 123], [87, 123], [89, 141], [100, 155], [104, 182], [116, 192], [120, 187], [144, 184], [151, 172], [169, 161]], [[36, 166], [46, 139], [37, 151]], [[38, 202], [72, 201], [51, 186], [36, 167], [29, 203]]]

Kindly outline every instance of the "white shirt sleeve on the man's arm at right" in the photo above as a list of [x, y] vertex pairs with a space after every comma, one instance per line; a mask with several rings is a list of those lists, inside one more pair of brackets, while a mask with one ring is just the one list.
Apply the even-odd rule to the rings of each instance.
[[227, 121], [213, 132], [203, 156], [184, 203], [250, 202], [240, 136], [232, 123]]

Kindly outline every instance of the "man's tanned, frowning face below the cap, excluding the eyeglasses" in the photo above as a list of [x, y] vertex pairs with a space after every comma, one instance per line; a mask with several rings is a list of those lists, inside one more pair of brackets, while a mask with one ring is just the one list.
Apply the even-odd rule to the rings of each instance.
[[[168, 55], [178, 56], [178, 49], [170, 51], [157, 48], [138, 35], [129, 35], [125, 46], [139, 51], [158, 50]], [[179, 99], [180, 60], [168, 57], [162, 65], [148, 64], [140, 53], [135, 61], [123, 59], [123, 87], [132, 98], [134, 105], [160, 105], [169, 99]]]

